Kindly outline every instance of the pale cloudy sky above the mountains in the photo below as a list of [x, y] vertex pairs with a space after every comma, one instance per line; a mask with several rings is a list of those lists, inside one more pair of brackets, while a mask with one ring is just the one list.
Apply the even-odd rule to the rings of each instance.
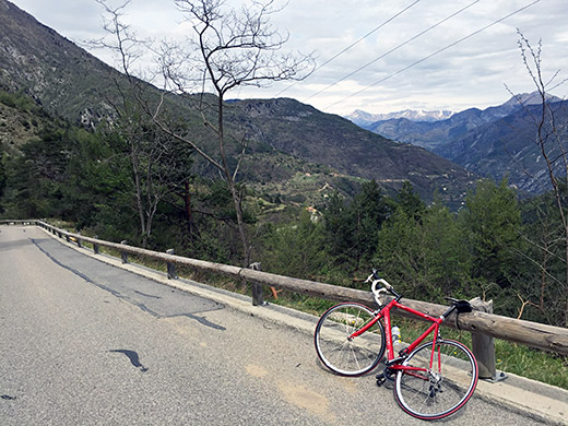
[[[73, 42], [104, 35], [95, 0], [10, 1]], [[126, 13], [139, 36], [190, 32], [173, 0], [131, 0]], [[568, 79], [566, 0], [288, 0], [271, 22], [289, 33], [288, 49], [315, 52], [321, 68], [292, 86], [244, 88], [230, 97], [293, 97], [341, 115], [500, 105], [510, 97], [505, 85], [534, 90], [518, 29], [535, 47], [542, 39], [546, 78], [559, 71], [557, 82]], [[113, 64], [109, 52], [91, 52]], [[566, 97], [568, 84], [553, 93]]]

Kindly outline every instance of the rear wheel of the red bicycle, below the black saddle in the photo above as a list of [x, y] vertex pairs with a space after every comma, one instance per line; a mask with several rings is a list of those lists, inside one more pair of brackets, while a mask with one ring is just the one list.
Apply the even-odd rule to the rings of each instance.
[[402, 365], [412, 368], [397, 374], [394, 397], [402, 410], [417, 418], [437, 419], [455, 413], [477, 386], [477, 362], [460, 342], [440, 339], [434, 354], [433, 342], [425, 343]]

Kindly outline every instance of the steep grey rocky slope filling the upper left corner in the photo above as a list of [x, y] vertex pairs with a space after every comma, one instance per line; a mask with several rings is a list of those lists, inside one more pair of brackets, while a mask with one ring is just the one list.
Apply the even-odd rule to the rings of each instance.
[[21, 91], [45, 108], [85, 123], [109, 110], [100, 88], [118, 72], [0, 0], [0, 88]]

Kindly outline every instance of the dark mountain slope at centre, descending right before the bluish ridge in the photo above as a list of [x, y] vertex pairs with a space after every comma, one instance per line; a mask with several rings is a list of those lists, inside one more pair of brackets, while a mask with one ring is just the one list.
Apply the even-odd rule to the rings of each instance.
[[387, 140], [294, 99], [240, 100], [236, 107], [252, 129], [252, 138], [274, 151], [341, 174], [376, 179], [387, 188], [400, 188], [410, 180], [428, 198], [433, 190], [459, 198], [474, 180], [473, 174], [424, 149]]

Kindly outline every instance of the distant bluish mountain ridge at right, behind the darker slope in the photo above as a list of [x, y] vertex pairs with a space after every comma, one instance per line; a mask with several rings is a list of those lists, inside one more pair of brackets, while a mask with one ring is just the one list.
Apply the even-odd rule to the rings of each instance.
[[[548, 95], [546, 102], [557, 111], [557, 118], [566, 116], [560, 98]], [[511, 96], [502, 105], [469, 108], [440, 121], [399, 118], [377, 121], [365, 128], [425, 147], [480, 176], [494, 179], [509, 176], [510, 184], [521, 190], [542, 193], [547, 187], [537, 182], [535, 163], [539, 155], [531, 145], [537, 126], [530, 123], [531, 116], [542, 113], [539, 110], [541, 103], [539, 93], [522, 93]]]

